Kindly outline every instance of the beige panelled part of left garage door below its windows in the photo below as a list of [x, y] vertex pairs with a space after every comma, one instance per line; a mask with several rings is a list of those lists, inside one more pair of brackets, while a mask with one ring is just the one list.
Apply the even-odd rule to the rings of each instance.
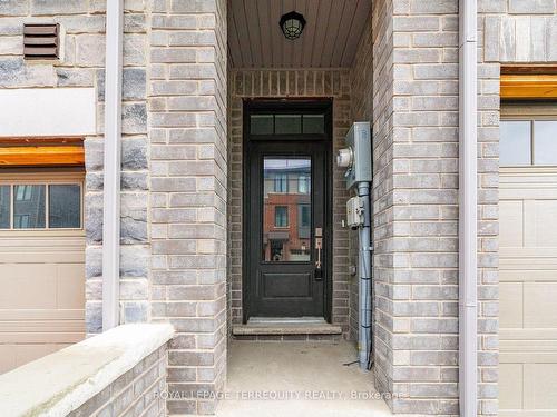
[[2, 231], [0, 285], [0, 373], [84, 339], [82, 231]]

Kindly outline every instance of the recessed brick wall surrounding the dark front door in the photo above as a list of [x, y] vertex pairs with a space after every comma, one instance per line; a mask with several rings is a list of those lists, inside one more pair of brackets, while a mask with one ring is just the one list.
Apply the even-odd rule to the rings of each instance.
[[[333, 155], [343, 147], [350, 123], [349, 70], [232, 70], [229, 73], [228, 280], [231, 315], [242, 322], [242, 146], [244, 98], [328, 97], [333, 99]], [[349, 337], [349, 230], [342, 227], [348, 192], [343, 172], [333, 168], [332, 322]]]

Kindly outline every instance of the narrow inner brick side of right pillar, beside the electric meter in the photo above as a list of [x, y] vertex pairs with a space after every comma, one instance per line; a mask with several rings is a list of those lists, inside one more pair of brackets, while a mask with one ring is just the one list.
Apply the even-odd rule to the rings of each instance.
[[[373, 37], [373, 374], [375, 388], [393, 393], [392, 300], [393, 277], [393, 33], [392, 0], [375, 1], [372, 8]], [[389, 401], [392, 408], [392, 401]]]

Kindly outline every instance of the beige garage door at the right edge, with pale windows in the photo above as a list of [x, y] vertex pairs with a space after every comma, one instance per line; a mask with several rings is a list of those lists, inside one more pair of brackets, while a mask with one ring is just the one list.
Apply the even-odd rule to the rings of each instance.
[[557, 416], [557, 117], [551, 112], [510, 107], [501, 121], [500, 416]]

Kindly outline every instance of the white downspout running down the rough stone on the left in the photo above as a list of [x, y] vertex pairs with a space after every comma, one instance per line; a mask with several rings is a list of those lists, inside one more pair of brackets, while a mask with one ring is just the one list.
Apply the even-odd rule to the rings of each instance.
[[120, 137], [124, 0], [107, 1], [105, 172], [102, 202], [102, 331], [119, 324]]

